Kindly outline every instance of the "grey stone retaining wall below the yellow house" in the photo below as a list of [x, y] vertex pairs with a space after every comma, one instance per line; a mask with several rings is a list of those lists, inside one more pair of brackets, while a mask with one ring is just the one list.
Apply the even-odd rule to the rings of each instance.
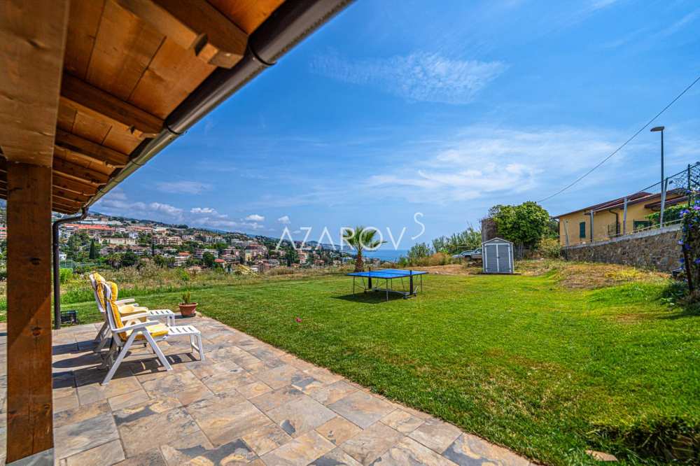
[[607, 262], [670, 272], [680, 267], [680, 225], [562, 248], [566, 260]]

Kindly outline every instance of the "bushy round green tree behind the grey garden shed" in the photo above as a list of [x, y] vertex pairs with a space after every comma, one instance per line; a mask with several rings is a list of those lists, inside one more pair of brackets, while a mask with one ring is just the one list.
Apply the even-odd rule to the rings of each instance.
[[549, 213], [536, 202], [523, 202], [519, 206], [494, 206], [493, 221], [496, 222], [498, 235], [504, 239], [521, 244], [526, 248], [537, 246], [549, 230]]

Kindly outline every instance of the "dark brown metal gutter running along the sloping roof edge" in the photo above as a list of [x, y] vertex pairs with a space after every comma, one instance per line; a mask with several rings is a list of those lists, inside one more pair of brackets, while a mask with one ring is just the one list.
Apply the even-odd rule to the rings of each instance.
[[232, 69], [217, 68], [165, 120], [165, 128], [146, 139], [130, 156], [130, 162], [90, 199], [91, 206], [139, 167], [155, 157], [246, 85], [297, 43], [316, 31], [353, 0], [286, 0], [248, 38], [244, 57]]

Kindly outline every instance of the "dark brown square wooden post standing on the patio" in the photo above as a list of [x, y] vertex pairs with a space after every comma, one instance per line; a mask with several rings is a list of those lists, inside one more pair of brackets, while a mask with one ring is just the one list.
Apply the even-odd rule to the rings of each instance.
[[8, 162], [7, 462], [53, 447], [51, 167]]

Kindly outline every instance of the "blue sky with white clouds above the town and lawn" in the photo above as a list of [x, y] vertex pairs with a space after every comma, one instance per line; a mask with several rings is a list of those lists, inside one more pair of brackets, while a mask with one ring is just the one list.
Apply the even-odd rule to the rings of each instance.
[[[360, 0], [93, 210], [295, 239], [405, 227], [407, 248], [594, 166], [700, 75], [699, 30], [692, 0]], [[700, 160], [699, 109], [700, 84], [655, 123], [669, 174]], [[542, 205], [654, 183], [658, 146], [643, 132]]]

